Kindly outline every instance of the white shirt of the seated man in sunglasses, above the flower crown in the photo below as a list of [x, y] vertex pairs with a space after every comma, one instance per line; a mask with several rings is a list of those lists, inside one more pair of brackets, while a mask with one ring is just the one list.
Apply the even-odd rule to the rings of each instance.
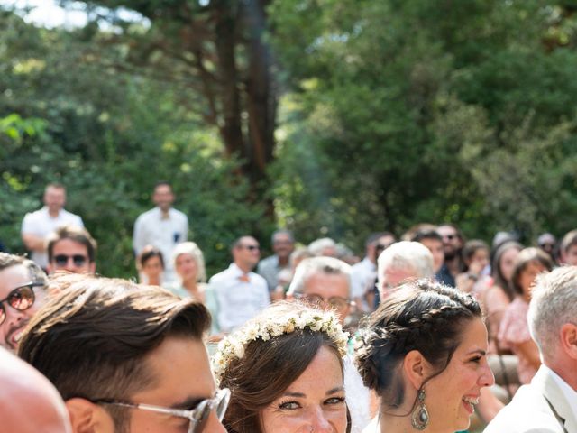
[[[248, 281], [243, 281], [243, 277]], [[245, 274], [234, 263], [214, 275], [208, 284], [216, 293], [218, 326], [223, 332], [242, 326], [270, 304], [267, 281], [254, 272]]]

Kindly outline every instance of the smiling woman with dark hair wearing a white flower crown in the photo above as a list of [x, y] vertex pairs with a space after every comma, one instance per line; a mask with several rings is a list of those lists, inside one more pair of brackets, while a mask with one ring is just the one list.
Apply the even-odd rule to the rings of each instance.
[[265, 309], [221, 341], [213, 367], [231, 390], [233, 433], [345, 433], [347, 334], [333, 312], [298, 302]]

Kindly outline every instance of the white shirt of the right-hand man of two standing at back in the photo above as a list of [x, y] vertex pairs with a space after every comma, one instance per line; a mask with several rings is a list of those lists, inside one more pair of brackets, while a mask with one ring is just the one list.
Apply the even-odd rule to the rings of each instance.
[[133, 233], [133, 248], [136, 255], [146, 245], [160, 250], [164, 259], [164, 281], [173, 282], [176, 274], [172, 265], [172, 250], [176, 244], [185, 242], [188, 236], [188, 217], [170, 207], [168, 217], [163, 217], [160, 207], [154, 207], [136, 218]]

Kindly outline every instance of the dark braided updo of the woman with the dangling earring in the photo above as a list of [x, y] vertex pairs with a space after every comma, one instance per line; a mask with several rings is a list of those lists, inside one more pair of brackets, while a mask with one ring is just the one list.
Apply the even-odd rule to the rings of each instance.
[[398, 368], [417, 350], [443, 373], [460, 344], [463, 321], [481, 318], [472, 296], [435, 281], [411, 281], [385, 299], [363, 324], [356, 343], [356, 364], [365, 386], [389, 408], [403, 403]]

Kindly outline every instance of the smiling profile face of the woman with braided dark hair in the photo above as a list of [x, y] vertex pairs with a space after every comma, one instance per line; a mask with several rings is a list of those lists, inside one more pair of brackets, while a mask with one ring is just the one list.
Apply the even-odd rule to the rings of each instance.
[[487, 364], [487, 328], [481, 318], [464, 321], [461, 338], [444, 372], [425, 384], [430, 418], [426, 431], [467, 429], [481, 388], [495, 382]]

